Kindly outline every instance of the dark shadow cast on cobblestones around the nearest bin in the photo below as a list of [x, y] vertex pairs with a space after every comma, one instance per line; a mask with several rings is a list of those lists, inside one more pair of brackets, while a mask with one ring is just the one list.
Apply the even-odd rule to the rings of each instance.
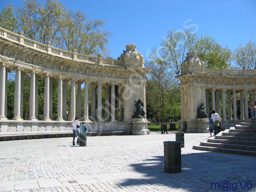
[[251, 191], [256, 188], [255, 163], [246, 164], [243, 158], [255, 161], [255, 157], [225, 153], [182, 154], [182, 172], [169, 174], [164, 172], [164, 157], [154, 156], [143, 163], [131, 164], [137, 177], [125, 179], [121, 185], [148, 184], [156, 185], [156, 189], [161, 185], [186, 191]]

